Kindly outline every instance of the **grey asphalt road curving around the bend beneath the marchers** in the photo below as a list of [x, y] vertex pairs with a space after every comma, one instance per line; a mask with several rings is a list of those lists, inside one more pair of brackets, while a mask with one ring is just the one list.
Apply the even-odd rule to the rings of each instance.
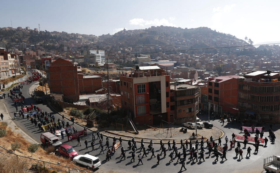
[[[23, 95], [26, 98], [24, 105], [30, 105], [33, 103], [33, 105], [38, 106], [40, 109], [42, 109], [44, 112], [50, 112], [55, 115], [55, 121], [57, 121], [58, 118], [62, 119], [61, 116], [57, 113], [54, 113], [55, 110], [50, 109], [47, 106], [47, 103], [44, 102], [43, 104], [36, 104], [35, 100], [30, 97], [28, 94], [29, 88], [33, 85], [34, 83], [31, 83], [30, 85], [24, 85], [23, 87]], [[8, 93], [8, 92], [7, 92]], [[13, 116], [13, 112], [15, 111], [15, 107], [13, 102], [10, 101], [10, 99], [1, 99], [1, 102], [4, 102], [7, 107], [8, 111], [10, 113], [10, 116]], [[4, 111], [4, 110], [1, 110]], [[206, 120], [208, 116], [201, 116], [199, 117], [202, 120]], [[35, 128], [34, 125], [31, 125], [30, 121], [27, 121], [26, 119], [18, 118], [14, 120], [15, 123], [27, 134], [29, 134], [31, 137], [34, 138], [34, 140], [40, 142], [40, 135], [42, 131], [39, 131], [38, 128]], [[213, 123], [214, 126], [222, 129], [225, 134], [231, 139], [231, 134], [234, 132], [235, 134], [238, 134], [240, 130], [237, 128], [240, 126], [239, 124], [226, 124], [224, 126], [221, 126], [221, 123], [219, 123], [217, 120], [211, 120], [211, 123]], [[66, 123], [65, 123], [66, 124]], [[71, 123], [72, 124], [72, 123]], [[74, 124], [76, 129], [83, 130], [83, 127], [80, 127], [77, 124]], [[278, 130], [280, 126], [275, 125], [274, 130]], [[266, 126], [266, 131], [268, 130], [268, 125]], [[234, 150], [228, 151], [227, 152], [227, 161], [221, 162], [221, 158], [219, 158], [219, 161], [217, 163], [213, 162], [215, 160], [214, 156], [211, 155], [210, 158], [208, 158], [208, 150], [205, 149], [205, 162], [191, 162], [190, 160], [186, 160], [185, 167], [187, 168], [186, 171], [183, 172], [232, 172], [232, 173], [237, 173], [237, 172], [262, 172], [262, 164], [263, 164], [263, 158], [271, 156], [271, 155], [279, 155], [279, 130], [275, 132], [276, 134], [276, 143], [275, 144], [268, 144], [268, 147], [260, 147], [259, 148], [259, 153], [257, 155], [253, 154], [253, 151], [255, 149], [254, 146], [252, 145], [247, 145], [251, 146], [252, 152], [251, 152], [251, 157], [246, 158], [246, 149], [244, 149], [243, 153], [243, 159], [238, 160], [235, 158], [235, 153]], [[268, 136], [268, 132], [265, 132], [264, 137]], [[160, 160], [160, 165], [156, 165], [157, 159], [152, 158], [150, 159], [150, 154], [148, 154], [148, 157], [143, 158], [143, 163], [144, 165], [137, 165], [138, 160], [137, 160], [137, 155], [139, 154], [139, 150], [136, 151], [136, 157], [135, 157], [135, 163], [130, 162], [131, 159], [131, 153], [130, 151], [126, 151], [126, 160], [120, 160], [120, 149], [118, 149], [115, 153], [114, 156], [112, 156], [112, 159], [108, 162], [105, 161], [105, 154], [101, 153], [100, 154], [100, 149], [98, 148], [99, 144], [98, 141], [96, 140], [95, 144], [95, 150], [92, 151], [90, 147], [91, 143], [91, 138], [92, 138], [92, 133], [88, 132], [88, 136], [81, 136], [81, 144], [82, 146], [77, 145], [77, 140], [73, 140], [68, 142], [66, 138], [62, 139], [62, 143], [64, 144], [69, 144], [73, 146], [78, 154], [85, 154], [85, 153], [90, 153], [92, 155], [96, 155], [97, 157], [100, 158], [102, 161], [101, 167], [99, 167], [99, 170], [97, 172], [108, 172], [109, 170], [113, 170], [115, 172], [154, 172], [154, 173], [160, 173], [160, 172], [180, 172], [181, 164], [178, 162], [176, 163], [177, 159], [174, 160], [174, 162], [169, 163], [170, 158], [167, 157], [165, 159]], [[84, 141], [85, 139], [88, 140], [88, 149], [85, 149], [85, 144]], [[105, 139], [105, 138], [104, 138]], [[112, 146], [112, 139], [110, 139], [110, 148]], [[225, 140], [222, 139], [222, 143], [225, 143]], [[123, 146], [125, 149], [128, 149], [128, 145], [126, 141], [123, 141]], [[145, 147], [148, 145], [145, 144]], [[140, 147], [140, 144], [138, 143], [137, 147]], [[177, 147], [180, 147], [180, 144], [177, 145]], [[241, 147], [243, 147], [243, 144], [241, 144]], [[105, 147], [104, 147], [105, 148]], [[154, 144], [155, 148], [155, 155], [159, 152], [160, 146], [158, 144]], [[199, 146], [200, 148], [200, 146]], [[182, 153], [182, 150], [179, 149], [179, 151]], [[171, 151], [167, 151], [167, 156], [170, 154]], [[106, 153], [106, 151], [105, 151]], [[161, 158], [163, 155], [161, 156]], [[187, 156], [187, 159], [190, 157], [190, 155]]]

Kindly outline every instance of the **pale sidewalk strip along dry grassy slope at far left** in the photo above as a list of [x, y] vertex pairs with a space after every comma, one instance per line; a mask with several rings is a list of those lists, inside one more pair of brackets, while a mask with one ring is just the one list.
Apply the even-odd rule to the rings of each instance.
[[[5, 100], [7, 100], [8, 98], [6, 98]], [[3, 100], [4, 101], [4, 100]], [[39, 144], [38, 142], [36, 142], [34, 139], [32, 139], [27, 133], [25, 133], [23, 130], [21, 130], [20, 126], [17, 126], [14, 122], [13, 119], [11, 119], [8, 113], [8, 109], [6, 107], [6, 104], [3, 103], [3, 101], [1, 100], [0, 102], [0, 110], [1, 113], [3, 113], [3, 121], [6, 121], [8, 123], [8, 126], [11, 128], [11, 130], [13, 130], [13, 132], [15, 132], [15, 134], [21, 134], [21, 136], [26, 139], [27, 141], [31, 142], [31, 143], [36, 143]], [[17, 115], [18, 116], [18, 115]], [[2, 122], [2, 120], [0, 119], [0, 122]]]

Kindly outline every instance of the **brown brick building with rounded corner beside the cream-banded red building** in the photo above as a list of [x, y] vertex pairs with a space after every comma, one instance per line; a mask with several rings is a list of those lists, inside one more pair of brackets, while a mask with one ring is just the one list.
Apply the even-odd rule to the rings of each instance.
[[170, 86], [170, 117], [175, 123], [195, 122], [198, 113], [198, 87], [189, 84]]

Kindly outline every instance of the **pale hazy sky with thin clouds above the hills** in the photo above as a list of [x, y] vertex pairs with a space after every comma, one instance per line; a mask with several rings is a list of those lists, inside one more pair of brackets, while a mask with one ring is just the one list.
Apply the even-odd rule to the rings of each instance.
[[0, 27], [114, 34], [150, 26], [209, 27], [254, 43], [280, 41], [280, 1], [1, 1]]

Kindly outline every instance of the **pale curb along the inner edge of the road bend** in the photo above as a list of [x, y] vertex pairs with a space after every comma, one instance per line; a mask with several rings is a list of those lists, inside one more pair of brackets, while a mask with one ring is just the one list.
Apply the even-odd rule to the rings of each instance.
[[[51, 106], [50, 104], [48, 104], [48, 106], [50, 106], [53, 110], [55, 110], [60, 116], [62, 116], [62, 114], [61, 113], [59, 113], [56, 109], [54, 109], [53, 108], [53, 106]], [[66, 118], [67, 120], [69, 120], [69, 121], [71, 121], [69, 118], [67, 118], [67, 117], [65, 117], [64, 116], [64, 118]], [[76, 122], [74, 122], [74, 123], [76, 123]], [[97, 132], [97, 131], [94, 131], [94, 130], [91, 130], [90, 128], [88, 128], [88, 127], [85, 127], [84, 125], [81, 125], [80, 123], [76, 123], [77, 125], [80, 125], [81, 127], [84, 127], [85, 129], [87, 129], [87, 130], [90, 130], [90, 131], [92, 131], [92, 132]], [[217, 128], [217, 127], [216, 127]], [[217, 129], [219, 129], [219, 128], [217, 128]], [[219, 129], [220, 130], [220, 129]], [[222, 133], [223, 133], [223, 135], [222, 135], [222, 137], [224, 136], [224, 132], [223, 132], [223, 130], [221, 130], [222, 131]], [[115, 134], [115, 133], [112, 133], [112, 132], [109, 132], [109, 131], [107, 131], [107, 130], [105, 130], [105, 132], [108, 132], [108, 133], [110, 133], [110, 134]], [[125, 135], [121, 135], [121, 134], [115, 134], [115, 135], [118, 135], [118, 136], [123, 136], [123, 137], [127, 137], [127, 138], [133, 138], [133, 137], [131, 137], [131, 136], [125, 136]], [[103, 134], [103, 136], [105, 136], [105, 137], [109, 137], [109, 138], [114, 138], [114, 137], [111, 137], [111, 136], [108, 136], [108, 135], [105, 135], [105, 134]], [[139, 137], [134, 137], [134, 138], [136, 138], [136, 139], [148, 139], [148, 140], [160, 140], [160, 139], [151, 139], [151, 138], [139, 138]], [[218, 140], [219, 138], [217, 138], [217, 139], [213, 139], [214, 141], [215, 140]], [[162, 141], [169, 141], [169, 140], [173, 140], [173, 139], [162, 139]], [[176, 139], [176, 140], [179, 140], [179, 139]], [[189, 139], [188, 139], [189, 140]], [[122, 141], [129, 141], [129, 139], [122, 139]], [[183, 141], [185, 141], [185, 140], [183, 140]], [[192, 140], [193, 141], [193, 140]], [[139, 142], [139, 143], [141, 143], [141, 141], [136, 141], [136, 142]], [[204, 141], [205, 143], [206, 143], [206, 141]], [[150, 144], [150, 142], [145, 142], [144, 141], [144, 143], [145, 144]], [[160, 144], [159, 142], [154, 142], [154, 144]], [[167, 143], [163, 143], [163, 144], [167, 144]]]

